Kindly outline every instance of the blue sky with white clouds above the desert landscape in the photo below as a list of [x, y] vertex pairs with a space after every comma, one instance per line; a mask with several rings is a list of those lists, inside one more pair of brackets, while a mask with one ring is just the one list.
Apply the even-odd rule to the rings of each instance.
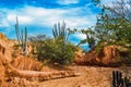
[[[102, 0], [111, 4], [112, 0]], [[63, 21], [67, 28], [87, 29], [96, 23], [100, 9], [92, 0], [0, 0], [0, 33], [9, 38], [16, 38], [15, 21], [19, 17], [20, 28], [25, 26], [28, 36], [47, 35], [52, 37], [53, 25]], [[82, 34], [70, 37], [73, 44], [84, 39]]]

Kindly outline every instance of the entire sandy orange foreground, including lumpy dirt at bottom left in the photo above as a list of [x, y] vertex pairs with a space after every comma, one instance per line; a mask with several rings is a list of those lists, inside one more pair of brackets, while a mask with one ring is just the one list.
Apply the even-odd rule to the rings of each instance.
[[[111, 72], [121, 67], [70, 66], [81, 73], [76, 77], [37, 80], [14, 78], [8, 87], [111, 87]], [[126, 69], [131, 74], [131, 67]]]

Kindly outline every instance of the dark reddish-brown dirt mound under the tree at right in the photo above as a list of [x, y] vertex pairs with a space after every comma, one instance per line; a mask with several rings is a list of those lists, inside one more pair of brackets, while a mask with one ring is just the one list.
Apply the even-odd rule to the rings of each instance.
[[91, 50], [85, 54], [81, 52], [75, 59], [75, 63], [82, 65], [115, 66], [118, 65], [120, 59], [117, 46], [107, 46], [99, 52], [96, 52], [95, 50]]

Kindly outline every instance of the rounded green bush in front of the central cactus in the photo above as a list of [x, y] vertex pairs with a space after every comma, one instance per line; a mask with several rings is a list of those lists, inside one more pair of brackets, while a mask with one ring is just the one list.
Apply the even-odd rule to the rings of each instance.
[[39, 61], [47, 63], [71, 64], [74, 59], [76, 47], [71, 44], [64, 44], [62, 39], [46, 39], [41, 47], [37, 49]]

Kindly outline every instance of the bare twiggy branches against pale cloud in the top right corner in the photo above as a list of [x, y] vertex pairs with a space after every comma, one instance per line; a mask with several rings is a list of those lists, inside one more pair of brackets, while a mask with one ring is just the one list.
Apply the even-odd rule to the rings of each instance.
[[131, 0], [116, 0], [112, 4], [110, 12], [114, 17], [131, 22]]

